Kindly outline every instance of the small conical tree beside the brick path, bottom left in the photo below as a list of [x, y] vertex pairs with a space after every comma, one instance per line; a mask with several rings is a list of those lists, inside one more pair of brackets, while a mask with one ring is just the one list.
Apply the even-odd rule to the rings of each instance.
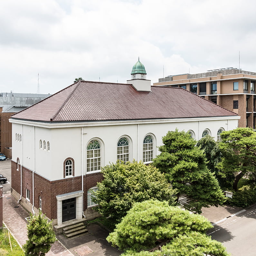
[[52, 229], [52, 222], [48, 222], [45, 216], [30, 214], [30, 221], [27, 224], [28, 240], [22, 246], [25, 255], [43, 256], [50, 251], [52, 244], [56, 240]]

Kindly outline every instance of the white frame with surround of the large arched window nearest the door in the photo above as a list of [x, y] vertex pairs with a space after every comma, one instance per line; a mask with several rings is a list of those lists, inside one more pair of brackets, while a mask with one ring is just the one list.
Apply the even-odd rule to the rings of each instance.
[[[96, 145], [91, 147], [92, 144], [96, 144], [99, 147], [96, 148]], [[91, 147], [91, 148], [89, 148], [89, 147]], [[86, 172], [88, 172], [88, 173], [100, 172], [101, 159], [102, 159], [101, 149], [102, 149], [102, 145], [98, 139], [96, 139], [96, 138], [91, 139], [88, 142], [87, 147], [86, 147]], [[88, 157], [91, 155], [92, 155], [92, 157]]]

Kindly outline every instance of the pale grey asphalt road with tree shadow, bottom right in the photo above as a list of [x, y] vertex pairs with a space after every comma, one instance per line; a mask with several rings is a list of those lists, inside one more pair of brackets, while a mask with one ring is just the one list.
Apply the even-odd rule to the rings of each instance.
[[222, 242], [232, 256], [256, 255], [256, 205], [227, 218], [207, 233]]

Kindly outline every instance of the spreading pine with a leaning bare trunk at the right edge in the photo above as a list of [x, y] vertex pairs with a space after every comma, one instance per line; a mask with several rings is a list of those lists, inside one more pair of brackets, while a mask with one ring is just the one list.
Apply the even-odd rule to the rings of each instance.
[[221, 133], [220, 149], [223, 154], [220, 168], [223, 176], [233, 175], [233, 189], [245, 174], [256, 167], [256, 132], [252, 128], [236, 128]]

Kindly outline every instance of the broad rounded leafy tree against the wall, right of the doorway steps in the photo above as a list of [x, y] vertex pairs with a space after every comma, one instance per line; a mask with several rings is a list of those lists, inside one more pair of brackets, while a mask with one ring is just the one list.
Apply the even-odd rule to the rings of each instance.
[[175, 204], [176, 193], [165, 175], [155, 167], [142, 162], [119, 162], [101, 169], [104, 177], [93, 192], [93, 202], [99, 204], [99, 212], [116, 224], [120, 222], [135, 202], [147, 199], [166, 200]]

